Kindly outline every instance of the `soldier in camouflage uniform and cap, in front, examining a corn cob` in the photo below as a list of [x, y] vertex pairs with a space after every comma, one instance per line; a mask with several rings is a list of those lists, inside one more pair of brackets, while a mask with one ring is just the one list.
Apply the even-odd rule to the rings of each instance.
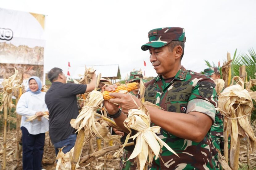
[[[152, 126], [160, 126], [157, 135], [180, 157], [165, 147], [161, 158], [153, 161], [155, 169], [215, 169], [209, 138], [210, 127], [215, 120], [217, 94], [215, 83], [205, 75], [181, 66], [186, 41], [183, 28], [167, 27], [153, 29], [148, 33], [149, 42], [142, 50], [150, 52], [152, 63], [158, 76], [145, 84], [145, 100], [161, 106], [164, 110], [147, 107]], [[108, 91], [117, 86], [109, 86]], [[141, 105], [139, 99], [128, 94], [110, 93], [116, 97], [104, 101], [105, 107], [117, 125], [127, 132], [123, 121], [130, 109]], [[136, 101], [136, 104], [134, 104]], [[118, 103], [122, 112], [118, 110]]]

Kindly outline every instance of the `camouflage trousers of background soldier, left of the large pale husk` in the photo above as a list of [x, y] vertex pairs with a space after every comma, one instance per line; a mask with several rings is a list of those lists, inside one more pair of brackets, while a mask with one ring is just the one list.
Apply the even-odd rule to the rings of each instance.
[[[119, 168], [122, 170], [136, 170], [137, 164], [134, 163], [134, 159], [126, 161], [131, 156], [132, 151], [123, 150], [123, 156], [121, 158]], [[125, 162], [126, 161], [126, 162]]]

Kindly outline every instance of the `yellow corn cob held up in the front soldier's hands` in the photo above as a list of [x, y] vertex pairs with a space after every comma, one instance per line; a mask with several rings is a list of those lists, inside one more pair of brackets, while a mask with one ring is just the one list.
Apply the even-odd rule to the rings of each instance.
[[116, 88], [115, 91], [103, 91], [102, 95], [104, 100], [109, 100], [113, 99], [113, 96], [110, 96], [109, 93], [118, 93], [121, 90], [127, 90], [128, 92], [133, 91], [139, 87], [139, 83], [133, 82], [133, 83], [128, 83], [126, 85], [120, 85]]

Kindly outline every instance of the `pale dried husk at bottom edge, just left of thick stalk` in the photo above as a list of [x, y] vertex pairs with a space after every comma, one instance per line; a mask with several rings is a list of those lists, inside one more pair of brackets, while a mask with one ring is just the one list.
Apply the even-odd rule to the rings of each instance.
[[[66, 147], [66, 146], [64, 146]], [[67, 153], [63, 153], [62, 149], [64, 148], [62, 147], [61, 149], [59, 149], [59, 153], [56, 157], [56, 159], [58, 160], [57, 165], [56, 165], [56, 170], [62, 169], [62, 170], [70, 170], [71, 169], [71, 162], [72, 162], [72, 154], [74, 152], [74, 147]], [[80, 160], [80, 157], [79, 157]], [[79, 168], [79, 164], [76, 164], [76, 168]]]

